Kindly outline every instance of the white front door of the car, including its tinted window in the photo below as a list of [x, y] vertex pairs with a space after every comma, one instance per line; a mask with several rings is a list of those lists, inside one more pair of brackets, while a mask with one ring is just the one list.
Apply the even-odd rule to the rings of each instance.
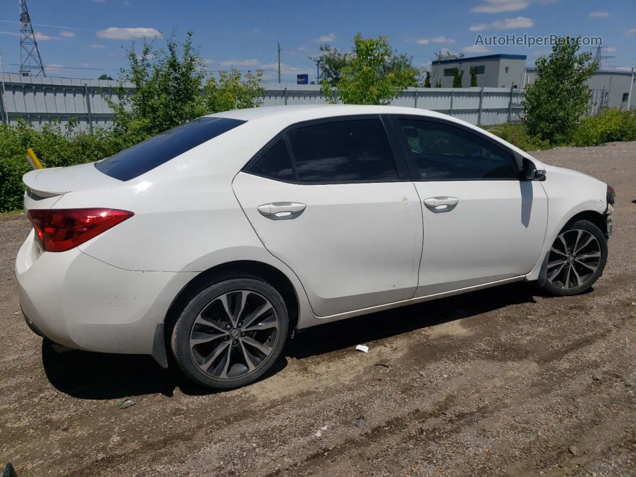
[[415, 296], [529, 273], [548, 223], [540, 183], [521, 181], [503, 144], [437, 118], [392, 116], [422, 200], [424, 246]]

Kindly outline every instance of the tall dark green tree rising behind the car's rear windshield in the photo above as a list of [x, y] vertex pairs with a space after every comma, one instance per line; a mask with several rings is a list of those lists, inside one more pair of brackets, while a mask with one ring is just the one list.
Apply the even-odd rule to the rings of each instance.
[[130, 81], [134, 93], [120, 86], [118, 101], [107, 100], [114, 113], [114, 129], [131, 134], [135, 141], [204, 112], [200, 93], [204, 63], [192, 45], [192, 32], [184, 43], [174, 37], [166, 39], [166, 46], [167, 50], [156, 49], [153, 43], [144, 41], [141, 54], [134, 44], [126, 50], [128, 69], [122, 69], [120, 80]]

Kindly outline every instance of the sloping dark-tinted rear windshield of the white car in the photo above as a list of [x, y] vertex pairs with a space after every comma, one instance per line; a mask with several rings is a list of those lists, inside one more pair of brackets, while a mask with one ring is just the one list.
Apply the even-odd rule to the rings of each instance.
[[124, 149], [95, 163], [95, 167], [107, 176], [128, 181], [244, 122], [230, 118], [198, 118]]

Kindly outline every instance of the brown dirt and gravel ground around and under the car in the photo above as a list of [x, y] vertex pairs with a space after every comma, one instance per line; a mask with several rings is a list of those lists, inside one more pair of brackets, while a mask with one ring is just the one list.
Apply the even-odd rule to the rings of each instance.
[[636, 142], [534, 155], [616, 188], [591, 293], [516, 284], [324, 325], [275, 373], [216, 394], [150, 357], [43, 348], [13, 278], [29, 225], [5, 214], [0, 463], [20, 477], [636, 475]]

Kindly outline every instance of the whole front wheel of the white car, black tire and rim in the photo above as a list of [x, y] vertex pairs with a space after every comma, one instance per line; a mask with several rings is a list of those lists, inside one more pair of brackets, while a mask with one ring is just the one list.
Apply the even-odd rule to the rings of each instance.
[[556, 296], [588, 291], [607, 263], [605, 235], [590, 221], [566, 225], [556, 237], [541, 270], [543, 288]]

